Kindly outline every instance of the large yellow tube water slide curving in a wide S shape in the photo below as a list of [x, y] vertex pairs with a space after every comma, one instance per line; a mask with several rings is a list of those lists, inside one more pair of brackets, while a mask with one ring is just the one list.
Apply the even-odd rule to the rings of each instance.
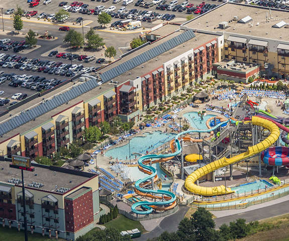
[[273, 145], [277, 139], [279, 138], [280, 131], [279, 128], [272, 122], [268, 121], [267, 119], [263, 119], [257, 116], [252, 117], [252, 125], [263, 127], [270, 131], [270, 135], [263, 140], [262, 142], [252, 146], [248, 147], [248, 150], [244, 153], [241, 153], [235, 157], [232, 158], [226, 158], [223, 157], [215, 162], [212, 162], [195, 172], [191, 173], [186, 179], [184, 186], [185, 188], [195, 194], [200, 194], [203, 196], [215, 196], [215, 195], [224, 195], [228, 193], [232, 193], [234, 191], [231, 190], [231, 188], [227, 187], [227, 190], [225, 190], [225, 186], [216, 186], [216, 187], [202, 187], [195, 184], [195, 182], [200, 179], [201, 177], [207, 175], [210, 172], [213, 172], [221, 167], [225, 167], [230, 164], [234, 164], [236, 162], [239, 162], [245, 158], [251, 157], [255, 154], [258, 154], [271, 145]]

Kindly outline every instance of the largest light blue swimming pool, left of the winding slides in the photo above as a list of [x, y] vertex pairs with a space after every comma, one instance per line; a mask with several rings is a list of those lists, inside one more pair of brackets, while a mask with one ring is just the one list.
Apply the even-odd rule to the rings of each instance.
[[118, 158], [118, 160], [126, 160], [126, 158], [129, 160], [129, 152], [131, 152], [131, 158], [135, 159], [136, 154], [146, 154], [146, 151], [150, 152], [172, 140], [176, 134], [156, 131], [153, 133], [145, 133], [144, 135], [145, 137], [132, 138], [130, 140], [130, 145], [126, 144], [124, 146], [108, 150], [105, 153], [105, 156], [113, 157], [114, 159]]

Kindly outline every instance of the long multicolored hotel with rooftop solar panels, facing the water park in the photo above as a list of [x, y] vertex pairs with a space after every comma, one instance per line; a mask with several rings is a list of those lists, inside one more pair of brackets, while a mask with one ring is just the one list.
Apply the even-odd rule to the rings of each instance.
[[[288, 18], [288, 11], [228, 3], [180, 26], [155, 29], [146, 36], [154, 42], [101, 69], [99, 79], [88, 76], [34, 107], [26, 103], [1, 116], [0, 155], [52, 155], [114, 116], [139, 121], [147, 108], [208, 75], [287, 78]], [[224, 64], [232, 60], [238, 68]]]

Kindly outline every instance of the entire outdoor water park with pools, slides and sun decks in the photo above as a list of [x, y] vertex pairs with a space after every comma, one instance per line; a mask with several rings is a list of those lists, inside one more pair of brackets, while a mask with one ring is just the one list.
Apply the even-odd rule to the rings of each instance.
[[289, 117], [272, 114], [267, 103], [283, 95], [225, 96], [217, 97], [225, 107], [211, 101], [176, 108], [95, 151], [93, 172], [112, 193], [106, 200], [147, 220], [179, 205], [235, 209], [289, 194]]

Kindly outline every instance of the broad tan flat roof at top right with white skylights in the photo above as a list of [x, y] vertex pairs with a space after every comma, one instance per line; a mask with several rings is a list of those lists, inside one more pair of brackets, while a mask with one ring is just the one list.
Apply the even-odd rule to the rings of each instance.
[[[252, 20], [247, 16], [251, 17]], [[234, 17], [238, 17], [238, 21], [234, 21]], [[240, 23], [239, 21], [242, 19], [246, 20], [246, 23]], [[241, 34], [289, 41], [289, 34], [287, 34], [287, 31], [289, 30], [285, 28], [285, 25], [279, 24], [282, 21], [289, 24], [289, 11], [253, 5], [227, 3], [184, 23], [183, 26], [191, 29], [225, 32], [232, 35]], [[226, 29], [219, 28], [219, 23], [221, 22], [228, 22], [229, 27]], [[273, 25], [282, 27], [272, 27]]]

